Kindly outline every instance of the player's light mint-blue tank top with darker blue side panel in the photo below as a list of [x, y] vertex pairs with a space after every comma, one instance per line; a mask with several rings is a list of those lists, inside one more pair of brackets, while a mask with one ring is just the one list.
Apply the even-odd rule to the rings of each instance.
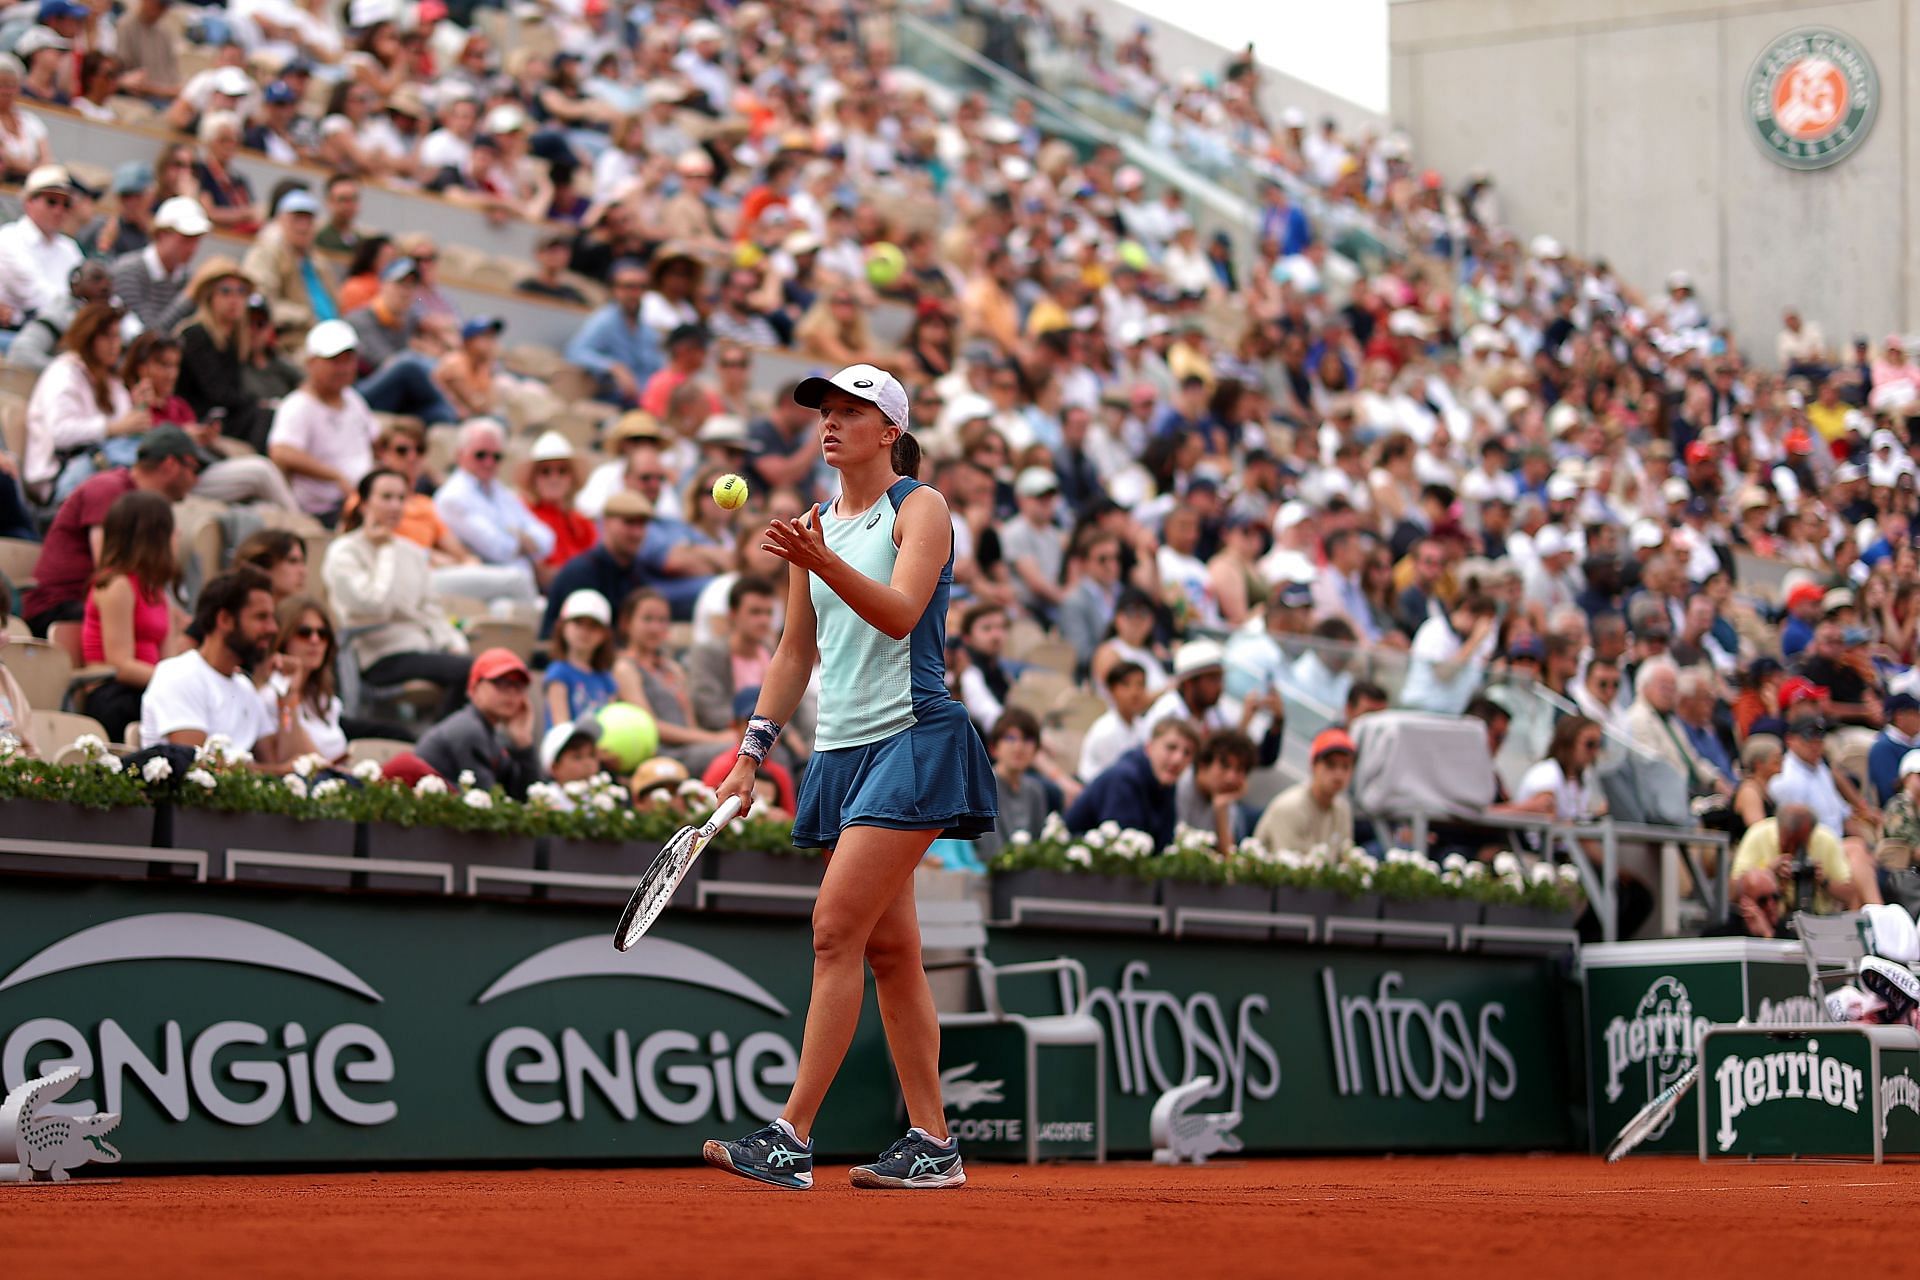
[[[893, 522], [918, 480], [899, 480], [887, 495], [858, 516], [843, 520], [831, 503], [816, 509], [828, 547], [876, 581], [893, 581], [900, 549]], [[947, 693], [947, 597], [954, 581], [952, 549], [941, 581], [920, 622], [904, 639], [893, 639], [856, 614], [833, 587], [812, 578], [808, 595], [820, 631], [820, 727], [814, 750], [866, 747], [918, 723], [918, 708]]]

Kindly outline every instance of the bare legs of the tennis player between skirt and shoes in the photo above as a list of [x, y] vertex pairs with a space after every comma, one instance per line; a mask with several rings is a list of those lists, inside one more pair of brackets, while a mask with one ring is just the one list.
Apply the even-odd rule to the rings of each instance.
[[[866, 950], [881, 917], [895, 906], [902, 892], [912, 910], [914, 867], [925, 856], [927, 846], [939, 831], [893, 831], [887, 827], [847, 827], [833, 856], [828, 860], [826, 875], [820, 881], [820, 896], [814, 900], [814, 990], [806, 1006], [806, 1034], [801, 1040], [801, 1067], [793, 1079], [793, 1092], [781, 1119], [793, 1125], [793, 1132], [803, 1140], [814, 1128], [820, 1103], [828, 1096], [828, 1086], [839, 1073], [847, 1046], [852, 1044], [854, 1027], [860, 1021], [860, 988], [866, 984]], [[920, 938], [914, 936], [914, 958], [918, 967]], [[899, 965], [889, 965], [899, 969]], [[925, 1007], [925, 1032], [937, 1036], [939, 1023], [931, 1017], [933, 998], [925, 990], [927, 979], [918, 977], [922, 1002]], [[881, 1017], [887, 1015], [889, 1000], [881, 996]], [[899, 1002], [893, 1002], [899, 1006]], [[887, 1027], [887, 1042], [895, 1044], [895, 1027]], [[927, 1057], [931, 1054], [931, 1057]], [[910, 1057], [922, 1059], [933, 1071], [933, 1111], [939, 1111], [939, 1052], [937, 1044], [920, 1048]], [[902, 1086], [908, 1079], [906, 1063], [899, 1063]], [[922, 1065], [920, 1071], [925, 1071]], [[924, 1088], [918, 1086], [916, 1092]], [[922, 1094], [924, 1096], [924, 1094]], [[914, 1094], [908, 1094], [912, 1105]], [[945, 1125], [945, 1121], [937, 1121]], [[931, 1130], [929, 1130], [931, 1132]], [[939, 1132], [947, 1132], [941, 1128]]]

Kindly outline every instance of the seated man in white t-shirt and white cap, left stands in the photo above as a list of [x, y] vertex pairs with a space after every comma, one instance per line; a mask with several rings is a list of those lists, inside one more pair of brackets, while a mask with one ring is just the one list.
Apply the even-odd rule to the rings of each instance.
[[321, 320], [307, 332], [307, 380], [273, 411], [267, 457], [286, 472], [294, 501], [328, 520], [372, 470], [380, 424], [353, 378], [359, 334], [346, 320]]

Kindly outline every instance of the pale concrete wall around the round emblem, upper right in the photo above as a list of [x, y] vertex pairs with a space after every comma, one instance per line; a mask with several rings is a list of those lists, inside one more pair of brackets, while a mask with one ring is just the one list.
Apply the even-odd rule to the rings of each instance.
[[[1814, 173], [1776, 165], [1741, 119], [1753, 59], [1805, 25], [1880, 73], [1872, 132]], [[1507, 223], [1657, 290], [1693, 273], [1749, 355], [1780, 309], [1830, 342], [1920, 328], [1920, 12], [1912, 0], [1394, 0], [1392, 115], [1419, 161], [1486, 167]]]

